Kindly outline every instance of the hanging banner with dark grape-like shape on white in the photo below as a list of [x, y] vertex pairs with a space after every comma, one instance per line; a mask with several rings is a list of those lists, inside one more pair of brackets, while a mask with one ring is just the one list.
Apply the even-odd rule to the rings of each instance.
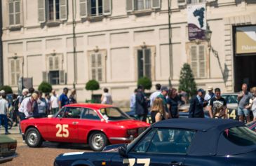
[[206, 4], [187, 6], [189, 40], [206, 39]]

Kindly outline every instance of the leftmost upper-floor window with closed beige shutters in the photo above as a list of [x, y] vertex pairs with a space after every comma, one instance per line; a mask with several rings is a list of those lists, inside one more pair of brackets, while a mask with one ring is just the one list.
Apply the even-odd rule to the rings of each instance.
[[[16, 6], [15, 3], [19, 2], [19, 12], [16, 12]], [[13, 13], [10, 13], [10, 4], [13, 4]], [[12, 0], [12, 1], [8, 1], [8, 26], [9, 27], [19, 27], [22, 25], [22, 0]], [[20, 23], [17, 24], [16, 22], [16, 15], [19, 15], [20, 18]], [[10, 15], [13, 15], [13, 25], [11, 25], [10, 22]]]

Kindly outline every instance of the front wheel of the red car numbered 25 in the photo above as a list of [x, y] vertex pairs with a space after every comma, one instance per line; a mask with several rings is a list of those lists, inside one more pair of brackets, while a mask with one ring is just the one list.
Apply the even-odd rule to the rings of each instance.
[[29, 128], [25, 134], [25, 141], [29, 147], [39, 147], [43, 143], [41, 134], [35, 128]]

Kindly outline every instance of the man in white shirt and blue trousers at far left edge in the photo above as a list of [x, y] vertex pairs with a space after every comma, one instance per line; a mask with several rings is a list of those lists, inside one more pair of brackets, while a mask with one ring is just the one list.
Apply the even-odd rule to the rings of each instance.
[[8, 110], [8, 102], [6, 100], [6, 94], [4, 92], [1, 92], [1, 98], [0, 98], [0, 124], [1, 124], [1, 120], [4, 118], [4, 127], [6, 129], [6, 134], [11, 134], [10, 132], [8, 132], [7, 110]]

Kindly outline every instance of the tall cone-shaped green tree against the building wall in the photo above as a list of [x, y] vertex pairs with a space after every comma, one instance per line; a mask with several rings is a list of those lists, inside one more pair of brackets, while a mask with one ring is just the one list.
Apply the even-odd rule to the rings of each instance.
[[190, 65], [185, 63], [180, 71], [179, 90], [188, 93], [189, 97], [196, 95], [196, 82]]

